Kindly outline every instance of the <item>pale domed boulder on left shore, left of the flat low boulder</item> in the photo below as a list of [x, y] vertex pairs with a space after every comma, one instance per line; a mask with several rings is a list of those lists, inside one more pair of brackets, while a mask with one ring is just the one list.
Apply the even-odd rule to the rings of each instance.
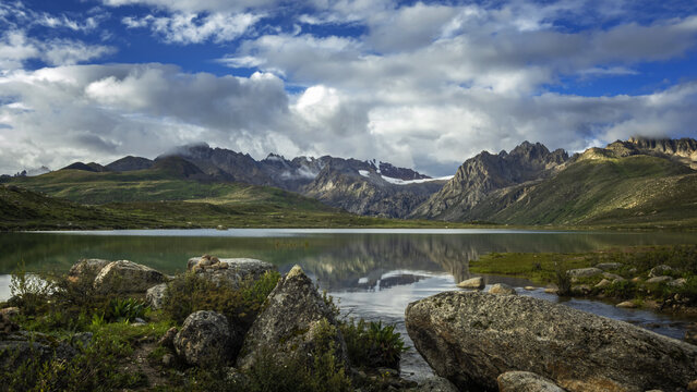
[[100, 293], [145, 293], [167, 281], [161, 272], [129, 260], [111, 261], [99, 271], [94, 286]]

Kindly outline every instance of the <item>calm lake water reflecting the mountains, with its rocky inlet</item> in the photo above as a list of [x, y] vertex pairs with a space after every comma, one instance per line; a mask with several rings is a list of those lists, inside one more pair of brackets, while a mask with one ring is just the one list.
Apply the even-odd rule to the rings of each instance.
[[[406, 336], [404, 310], [410, 302], [443, 291], [470, 277], [469, 260], [491, 252], [588, 252], [620, 246], [695, 244], [697, 233], [540, 232], [516, 230], [135, 230], [99, 232], [0, 233], [0, 299], [10, 296], [12, 270], [68, 271], [80, 258], [128, 259], [166, 273], [185, 270], [190, 257], [251, 257], [281, 272], [298, 264], [340, 302], [349, 316], [397, 324]], [[525, 291], [524, 279], [485, 277], [518, 293], [560, 301], [541, 289]], [[682, 339], [687, 319], [645, 310], [617, 309], [598, 301], [564, 304]], [[411, 342], [408, 342], [411, 344]], [[402, 372], [430, 373], [412, 350]]]

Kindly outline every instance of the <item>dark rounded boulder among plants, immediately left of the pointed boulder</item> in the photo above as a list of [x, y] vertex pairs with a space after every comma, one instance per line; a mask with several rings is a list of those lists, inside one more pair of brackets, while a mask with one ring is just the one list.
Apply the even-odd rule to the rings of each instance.
[[177, 355], [189, 365], [221, 367], [231, 359], [228, 319], [212, 310], [194, 311], [175, 336]]

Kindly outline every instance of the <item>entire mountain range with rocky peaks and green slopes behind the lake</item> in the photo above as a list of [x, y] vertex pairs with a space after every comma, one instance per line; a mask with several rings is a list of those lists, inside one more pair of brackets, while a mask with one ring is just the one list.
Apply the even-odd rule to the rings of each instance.
[[[171, 188], [154, 185], [164, 177]], [[154, 160], [129, 156], [106, 166], [75, 162], [3, 181], [83, 204], [211, 200], [223, 197], [211, 191], [216, 186], [242, 183], [372, 217], [524, 225], [697, 225], [697, 140], [692, 138], [637, 137], [573, 156], [524, 142], [510, 151], [482, 151], [443, 179], [375, 160], [288, 160], [274, 154], [255, 160], [196, 144]], [[111, 188], [104, 187], [106, 182], [123, 189], [132, 186], [132, 192], [101, 192], [99, 187]], [[148, 194], [148, 188], [157, 192]], [[189, 191], [177, 193], [183, 188]]]

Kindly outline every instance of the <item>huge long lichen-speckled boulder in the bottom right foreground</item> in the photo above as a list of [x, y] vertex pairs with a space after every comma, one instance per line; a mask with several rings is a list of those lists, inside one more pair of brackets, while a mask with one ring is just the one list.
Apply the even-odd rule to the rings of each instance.
[[406, 327], [438, 376], [495, 390], [509, 370], [568, 391], [678, 389], [697, 378], [697, 347], [626, 322], [517, 295], [446, 292], [409, 304]]

